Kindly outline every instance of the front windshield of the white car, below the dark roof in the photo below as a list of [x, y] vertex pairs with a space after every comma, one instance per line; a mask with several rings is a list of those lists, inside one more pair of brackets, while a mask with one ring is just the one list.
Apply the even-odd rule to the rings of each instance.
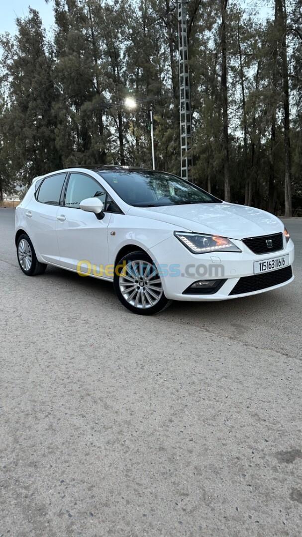
[[193, 203], [221, 203], [198, 186], [158, 171], [100, 171], [119, 197], [134, 207], [161, 207]]

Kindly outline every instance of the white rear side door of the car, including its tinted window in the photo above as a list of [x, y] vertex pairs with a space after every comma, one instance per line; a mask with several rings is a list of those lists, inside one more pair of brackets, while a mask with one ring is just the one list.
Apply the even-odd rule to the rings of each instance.
[[26, 231], [38, 256], [54, 264], [59, 262], [56, 215], [66, 176], [66, 172], [55, 173], [42, 179], [25, 208]]

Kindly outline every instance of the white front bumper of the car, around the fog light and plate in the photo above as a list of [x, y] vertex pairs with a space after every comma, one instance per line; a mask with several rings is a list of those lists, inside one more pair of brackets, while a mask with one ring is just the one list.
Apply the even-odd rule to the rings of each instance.
[[[289, 255], [289, 266], [294, 261], [294, 245], [291, 240], [283, 250], [256, 255], [241, 241], [232, 241], [241, 252], [193, 254], [175, 237], [168, 238], [150, 249], [149, 254], [159, 268], [164, 294], [170, 300], [213, 302], [271, 291], [293, 281], [294, 276], [282, 283], [247, 293], [231, 294], [240, 278], [254, 275], [254, 262]], [[284, 241], [285, 242], [285, 241]], [[282, 269], [280, 269], [282, 270]], [[184, 294], [198, 280], [223, 279], [224, 284], [214, 294]]]

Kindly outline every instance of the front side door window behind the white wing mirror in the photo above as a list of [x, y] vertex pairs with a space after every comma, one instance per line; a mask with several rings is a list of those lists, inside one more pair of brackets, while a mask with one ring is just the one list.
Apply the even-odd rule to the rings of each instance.
[[67, 185], [65, 206], [79, 208], [81, 201], [87, 198], [98, 198], [105, 206], [106, 192], [102, 186], [83, 173], [71, 173]]

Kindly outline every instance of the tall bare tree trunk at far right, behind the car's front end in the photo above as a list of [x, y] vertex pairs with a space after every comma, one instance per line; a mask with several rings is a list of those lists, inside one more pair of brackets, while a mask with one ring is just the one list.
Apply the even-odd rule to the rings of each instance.
[[284, 173], [284, 216], [292, 215], [292, 197], [291, 197], [291, 144], [290, 144], [290, 100], [289, 100], [289, 66], [287, 62], [287, 21], [285, 0], [276, 0], [279, 29], [281, 32], [281, 63], [282, 63], [282, 89], [283, 89], [283, 111], [284, 111], [284, 155], [285, 155], [285, 173]]

